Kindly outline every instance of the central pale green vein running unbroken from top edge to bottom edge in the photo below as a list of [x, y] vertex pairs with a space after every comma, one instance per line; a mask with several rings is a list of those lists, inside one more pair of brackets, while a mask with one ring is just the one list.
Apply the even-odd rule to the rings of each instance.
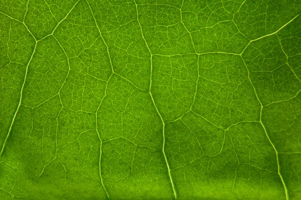
[[170, 178], [172, 187], [173, 187], [174, 196], [175, 196], [175, 199], [177, 199], [177, 192], [176, 192], [176, 189], [175, 189], [174, 181], [173, 181], [172, 174], [171, 174], [171, 169], [170, 169], [170, 166], [169, 166], [169, 163], [168, 163], [168, 160], [167, 160], [167, 156], [166, 156], [166, 153], [165, 153], [165, 122], [164, 122], [164, 120], [163, 120], [163, 118], [162, 118], [162, 115], [161, 115], [160, 112], [159, 112], [159, 109], [158, 109], [158, 107], [157, 107], [157, 105], [156, 105], [156, 103], [155, 103], [155, 99], [154, 99], [153, 94], [152, 94], [153, 54], [152, 54], [152, 51], [150, 51], [150, 48], [149, 48], [149, 46], [147, 45], [146, 39], [145, 39], [145, 37], [144, 37], [144, 35], [143, 35], [142, 26], [141, 26], [140, 21], [139, 21], [138, 5], [137, 5], [136, 1], [134, 1], [134, 2], [135, 2], [135, 5], [136, 5], [137, 21], [138, 21], [138, 24], [139, 24], [139, 26], [140, 26], [141, 35], [142, 35], [142, 38], [143, 38], [143, 40], [144, 40], [144, 42], [145, 42], [146, 47], [148, 48], [149, 53], [150, 53], [150, 77], [149, 77], [149, 78], [150, 78], [150, 82], [149, 82], [149, 95], [150, 95], [150, 98], [152, 98], [153, 104], [154, 104], [154, 106], [155, 106], [155, 108], [156, 108], [156, 110], [157, 110], [157, 112], [158, 112], [158, 114], [159, 114], [159, 116], [160, 116], [160, 118], [161, 118], [161, 121], [162, 121], [162, 123], [163, 123], [163, 146], [162, 146], [162, 152], [163, 152], [164, 159], [165, 159], [165, 162], [166, 162], [166, 165], [167, 165], [168, 175], [169, 175], [169, 178]]

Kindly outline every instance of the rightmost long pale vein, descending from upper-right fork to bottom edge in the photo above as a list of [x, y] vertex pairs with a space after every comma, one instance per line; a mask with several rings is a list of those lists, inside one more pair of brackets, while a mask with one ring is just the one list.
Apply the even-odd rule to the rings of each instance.
[[[295, 18], [295, 17], [294, 17], [294, 18]], [[291, 21], [291, 20], [290, 20], [290, 21]], [[241, 58], [242, 58], [242, 57], [241, 57]], [[264, 124], [262, 123], [261, 116], [262, 116], [262, 108], [263, 108], [263, 106], [262, 106], [262, 103], [261, 103], [261, 101], [260, 101], [260, 99], [259, 99], [259, 97], [258, 97], [258, 95], [257, 95], [257, 92], [256, 92], [256, 89], [255, 89], [255, 87], [254, 87], [254, 85], [253, 85], [253, 82], [252, 82], [251, 79], [250, 79], [250, 72], [249, 72], [249, 69], [248, 69], [248, 67], [247, 67], [247, 65], [246, 65], [246, 63], [245, 63], [245, 61], [244, 61], [243, 58], [242, 58], [242, 60], [243, 60], [244, 65], [245, 65], [245, 67], [246, 67], [246, 69], [247, 69], [247, 71], [248, 71], [248, 78], [249, 78], [249, 81], [250, 81], [250, 83], [251, 83], [251, 85], [252, 85], [252, 87], [253, 87], [253, 89], [254, 89], [254, 93], [255, 93], [255, 95], [256, 95], [256, 98], [257, 98], [257, 100], [258, 100], [259, 103], [260, 103], [259, 122], [260, 122], [260, 124], [261, 124], [261, 126], [262, 126], [262, 128], [263, 128], [263, 130], [264, 130], [264, 133], [265, 133], [267, 139], [269, 140], [270, 144], [272, 145], [272, 147], [273, 147], [273, 149], [274, 149], [274, 151], [275, 151], [275, 153], [276, 153], [277, 172], [278, 172], [278, 175], [279, 175], [279, 177], [280, 177], [280, 179], [281, 179], [281, 182], [282, 182], [282, 185], [283, 185], [283, 188], [284, 188], [285, 198], [286, 198], [286, 200], [288, 200], [288, 199], [289, 199], [289, 196], [288, 196], [288, 190], [287, 190], [286, 184], [285, 184], [285, 182], [284, 182], [284, 180], [283, 180], [283, 177], [282, 177], [282, 175], [281, 175], [281, 173], [280, 173], [280, 164], [279, 164], [279, 158], [278, 158], [278, 151], [276, 150], [276, 147], [275, 147], [274, 143], [271, 141], [269, 135], [267, 134], [266, 128], [265, 128]]]

